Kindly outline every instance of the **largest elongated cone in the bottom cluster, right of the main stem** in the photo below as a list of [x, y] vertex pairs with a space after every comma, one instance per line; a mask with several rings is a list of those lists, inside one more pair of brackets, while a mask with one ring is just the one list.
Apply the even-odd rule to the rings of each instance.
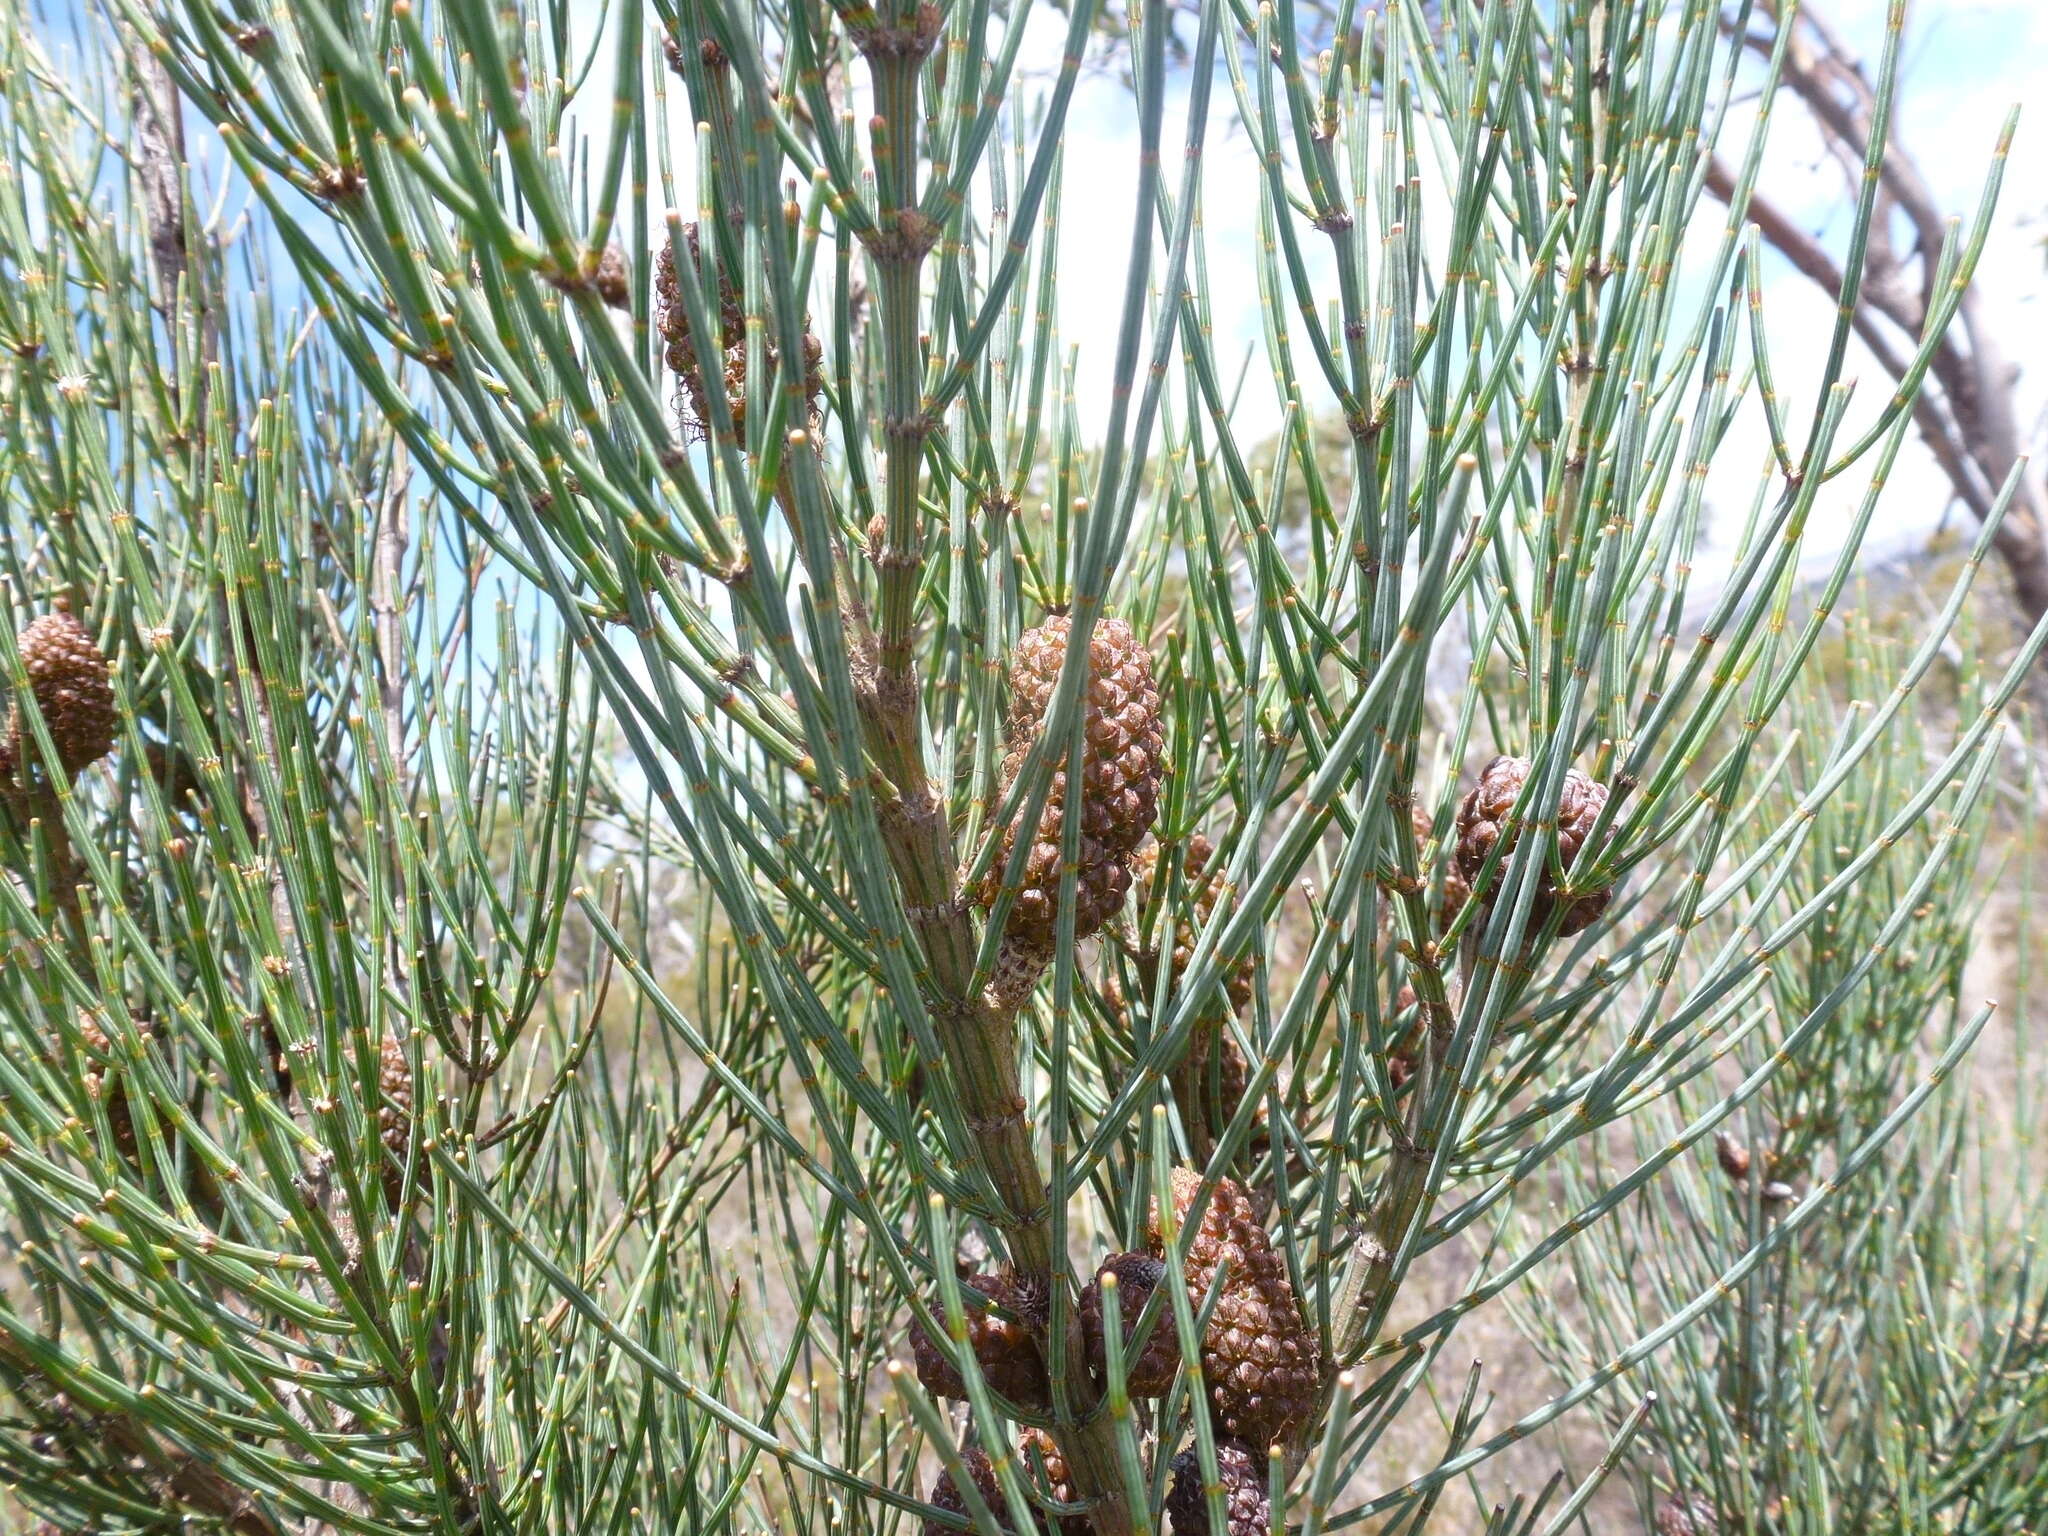
[[[1196, 1223], [1188, 1249], [1188, 1290], [1208, 1294], [1217, 1266], [1229, 1274], [1202, 1335], [1202, 1376], [1223, 1434], [1253, 1446], [1286, 1440], [1315, 1413], [1321, 1360], [1300, 1321], [1286, 1264], [1272, 1249], [1237, 1180], [1219, 1180], [1206, 1208], [1194, 1212], [1202, 1176], [1176, 1167], [1174, 1212]], [[1157, 1223], [1153, 1229], [1159, 1239]]]

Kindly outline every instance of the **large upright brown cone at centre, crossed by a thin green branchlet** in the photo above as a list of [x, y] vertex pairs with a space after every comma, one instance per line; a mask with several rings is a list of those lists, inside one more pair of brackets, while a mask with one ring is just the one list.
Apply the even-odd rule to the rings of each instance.
[[[1059, 668], [1067, 655], [1067, 618], [1055, 614], [1024, 633], [1010, 662], [1010, 752], [1004, 758], [1004, 793], [1016, 782], [1024, 758], [1053, 702]], [[1151, 831], [1159, 813], [1159, 778], [1165, 745], [1159, 735], [1159, 690], [1151, 653], [1122, 618], [1104, 618], [1087, 641], [1087, 692], [1083, 696], [1081, 752], [1081, 860], [1075, 872], [1073, 934], [1087, 938], [1122, 907], [1130, 889], [1130, 852]], [[1057, 743], [1055, 743], [1057, 748]], [[1010, 907], [1006, 934], [1036, 950], [1051, 950], [1059, 928], [1061, 831], [1067, 813], [1067, 766], [1053, 784], [1032, 834], [1024, 885]], [[1006, 831], [1004, 856], [979, 891], [993, 905], [1016, 829]]]

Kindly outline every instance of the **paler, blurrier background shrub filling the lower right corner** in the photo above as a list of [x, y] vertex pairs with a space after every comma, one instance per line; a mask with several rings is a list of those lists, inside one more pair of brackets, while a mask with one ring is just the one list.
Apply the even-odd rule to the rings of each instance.
[[[1802, 758], [1825, 752], [1847, 698], [1876, 692], [1886, 651], [1864, 623], [1849, 627], [1837, 680], [1847, 694], [1812, 686], [1798, 700], [1808, 729], [1794, 776]], [[1888, 752], [1866, 760], [1821, 813], [1782, 903], [1812, 895], [1853, 856], [1890, 784], [1933, 750], [1929, 723], [1909, 715], [1894, 725]], [[1784, 793], [1774, 799], [1782, 805]], [[2032, 829], [2021, 834], [2019, 846], [2032, 846]], [[1964, 965], [1987, 924], [1993, 864], [1966, 856], [1952, 885], [1921, 899], [1911, 936], [1858, 981], [1837, 1026], [1776, 1073], [1724, 1147], [1683, 1159], [1657, 1200], [1573, 1247], [1573, 1307], [1516, 1309], [1571, 1380], [1786, 1212], [1827, 1198], [1823, 1219], [1645, 1370], [1657, 1391], [1638, 1442], [1645, 1524], [1661, 1516], [1661, 1530], [1683, 1532], [1683, 1511], [1696, 1530], [1976, 1532], [2021, 1530], [2048, 1509], [2048, 1278], [2038, 1251], [2048, 1204], [2034, 1178], [2040, 1083], [2025, 1014], [1997, 1065], [1974, 1079], [1962, 1071], [1870, 1171], [1831, 1188], [1870, 1120], [1964, 1018]], [[2009, 870], [1999, 887], [2017, 893], [2025, 928], [2025, 872]], [[1712, 1075], [1632, 1126], [1632, 1155], [1763, 1065], [1905, 899], [1884, 877], [1843, 891], [1774, 961], [1759, 1026], [1731, 1042]], [[1599, 1182], [1599, 1163], [1567, 1169], [1565, 1198], [1583, 1200]], [[1632, 1407], [1632, 1397], [1614, 1399], [1608, 1413]]]

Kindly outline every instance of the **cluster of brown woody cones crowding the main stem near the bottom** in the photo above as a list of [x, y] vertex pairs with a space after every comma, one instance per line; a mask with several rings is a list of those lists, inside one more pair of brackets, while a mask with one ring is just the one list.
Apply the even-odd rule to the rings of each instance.
[[[1251, 1210], [1251, 1198], [1235, 1180], [1219, 1180], [1204, 1192], [1202, 1176], [1188, 1167], [1171, 1171], [1174, 1231], [1188, 1231], [1182, 1278], [1196, 1315], [1210, 1300], [1198, 1341], [1200, 1391], [1217, 1438], [1231, 1536], [1266, 1530], [1268, 1446], [1288, 1442], [1309, 1425], [1323, 1389], [1323, 1362], [1315, 1333], [1303, 1321], [1286, 1262], [1274, 1251], [1266, 1227]], [[1104, 1278], [1114, 1276], [1116, 1311], [1122, 1319], [1124, 1391], [1133, 1399], [1159, 1399], [1174, 1389], [1182, 1368], [1180, 1337], [1171, 1311], [1161, 1305], [1143, 1341], [1137, 1327], [1153, 1294], [1167, 1284], [1167, 1223], [1155, 1212], [1143, 1253], [1112, 1253], [1081, 1292], [1077, 1325], [1083, 1333], [1094, 1386], [1108, 1391]], [[1051, 1407], [1051, 1378], [1044, 1366], [1047, 1307], [1028, 1284], [1006, 1274], [977, 1274], [967, 1288], [991, 1303], [989, 1311], [969, 1311], [965, 1346], [975, 1356], [989, 1389], [1018, 1409], [1042, 1413]], [[913, 1331], [911, 1358], [918, 1380], [936, 1397], [965, 1399], [967, 1382], [954, 1356], [922, 1329]], [[1028, 1430], [1020, 1444], [1026, 1466], [1044, 1475], [1042, 1497], [1071, 1503], [1065, 1460], [1040, 1430]], [[995, 1468], [983, 1450], [969, 1450], [965, 1466], [991, 1511], [1004, 1509]], [[1167, 1499], [1174, 1536], [1208, 1536], [1208, 1503], [1202, 1491], [1200, 1456], [1190, 1444], [1174, 1458]], [[967, 1511], [967, 1497], [950, 1473], [932, 1487], [932, 1503], [954, 1513]], [[1040, 1530], [1059, 1526], [1061, 1536], [1087, 1536], [1083, 1513], [1040, 1516]], [[926, 1536], [948, 1528], [926, 1524]]]

